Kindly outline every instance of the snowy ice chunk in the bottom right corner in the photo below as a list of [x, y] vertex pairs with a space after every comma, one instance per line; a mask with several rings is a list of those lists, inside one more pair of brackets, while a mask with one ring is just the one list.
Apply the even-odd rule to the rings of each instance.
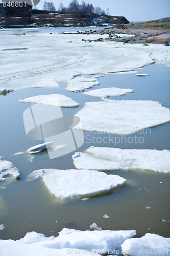
[[127, 239], [122, 245], [123, 255], [169, 255], [170, 238], [147, 233], [141, 238]]

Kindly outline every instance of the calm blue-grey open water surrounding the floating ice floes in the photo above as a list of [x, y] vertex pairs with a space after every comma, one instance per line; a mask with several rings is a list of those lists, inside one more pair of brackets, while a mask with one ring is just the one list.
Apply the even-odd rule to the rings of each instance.
[[[99, 78], [101, 84], [95, 88], [134, 89], [134, 93], [112, 97], [112, 99], [149, 99], [159, 101], [162, 106], [169, 108], [169, 68], [161, 65], [148, 65], [140, 70], [140, 73], [147, 73], [150, 76], [105, 75]], [[87, 201], [60, 201], [50, 194], [42, 179], [33, 182], [26, 181], [28, 174], [35, 169], [74, 168], [71, 158], [74, 152], [52, 160], [49, 159], [48, 154], [42, 154], [34, 156], [33, 162], [28, 160], [31, 156], [27, 153], [12, 156], [42, 143], [26, 137], [22, 114], [32, 103], [19, 103], [18, 100], [39, 94], [61, 93], [80, 103], [79, 108], [62, 109], [64, 115], [76, 114], [86, 101], [101, 100], [68, 92], [65, 90], [66, 83], [60, 83], [60, 85], [61, 88], [57, 89], [22, 89], [6, 96], [0, 95], [0, 156], [12, 161], [20, 172], [20, 181], [7, 178], [6, 181], [0, 183], [0, 224], [5, 225], [5, 229], [0, 231], [0, 239], [20, 239], [30, 231], [41, 232], [45, 236], [57, 236], [58, 231], [63, 227], [86, 230], [93, 222], [96, 222], [102, 229], [136, 229], [139, 237], [147, 232], [169, 237], [169, 174], [139, 170], [109, 172], [108, 174], [117, 174], [126, 178], [127, 186], [118, 189], [115, 193]], [[169, 124], [159, 125], [150, 130], [124, 136], [123, 140], [118, 135], [84, 132], [85, 143], [79, 151], [82, 152], [91, 145], [170, 150], [169, 127]], [[112, 136], [114, 143], [109, 140], [108, 143], [104, 143], [103, 137], [106, 136], [108, 138]], [[134, 136], [138, 138], [137, 143]], [[140, 137], [142, 139], [139, 139]], [[145, 208], [146, 206], [151, 208]], [[104, 214], [107, 214], [109, 219], [104, 219]]]

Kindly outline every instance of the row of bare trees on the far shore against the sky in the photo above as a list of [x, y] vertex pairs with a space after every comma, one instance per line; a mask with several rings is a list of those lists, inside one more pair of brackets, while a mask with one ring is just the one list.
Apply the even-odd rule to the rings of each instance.
[[[43, 5], [43, 10], [56, 11], [56, 8], [52, 2], [50, 3], [45, 1]], [[79, 5], [77, 0], [72, 0], [72, 2], [69, 3], [68, 7], [64, 7], [61, 3], [58, 11], [62, 13], [81, 14], [82, 16], [87, 13], [109, 15], [109, 8], [107, 8], [107, 11], [105, 12], [105, 10], [102, 10], [100, 7], [94, 8], [92, 4], [86, 4], [84, 1], [82, 1], [82, 4]]]

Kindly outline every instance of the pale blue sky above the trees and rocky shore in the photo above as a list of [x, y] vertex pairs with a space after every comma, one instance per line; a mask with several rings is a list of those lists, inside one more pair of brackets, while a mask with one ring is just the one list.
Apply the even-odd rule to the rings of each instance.
[[[60, 3], [65, 7], [71, 0], [46, 0], [53, 2], [58, 10]], [[130, 22], [147, 21], [170, 16], [170, 0], [84, 0], [85, 3], [92, 4], [101, 9], [110, 9], [110, 15], [125, 16]], [[44, 0], [36, 6], [42, 10]], [[82, 0], [78, 0], [81, 4]]]

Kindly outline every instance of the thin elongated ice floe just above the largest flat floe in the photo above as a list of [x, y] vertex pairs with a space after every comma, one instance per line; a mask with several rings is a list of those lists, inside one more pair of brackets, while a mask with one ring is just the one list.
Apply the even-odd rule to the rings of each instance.
[[84, 92], [84, 94], [94, 96], [94, 97], [107, 98], [111, 96], [125, 95], [126, 93], [133, 93], [133, 91], [134, 90], [132, 89], [121, 89], [121, 88], [111, 87], [111, 88], [91, 90], [89, 92]]

